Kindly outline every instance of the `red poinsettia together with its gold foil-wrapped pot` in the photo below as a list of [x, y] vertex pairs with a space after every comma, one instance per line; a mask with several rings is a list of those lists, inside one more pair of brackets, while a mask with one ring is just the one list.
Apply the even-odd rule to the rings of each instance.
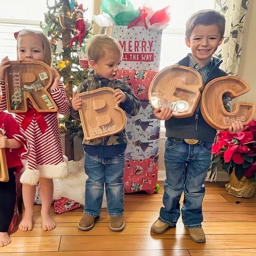
[[243, 131], [230, 134], [220, 131], [212, 146], [212, 168], [220, 161], [229, 174], [226, 191], [238, 197], [256, 194], [256, 120], [248, 123]]

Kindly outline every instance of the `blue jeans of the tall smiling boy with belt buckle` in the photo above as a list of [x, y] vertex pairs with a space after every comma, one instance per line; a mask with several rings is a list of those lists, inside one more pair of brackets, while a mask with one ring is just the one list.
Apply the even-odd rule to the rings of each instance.
[[[166, 180], [159, 219], [175, 226], [181, 211], [184, 227], [201, 228], [204, 180], [211, 162], [212, 143], [189, 145], [183, 140], [167, 138], [165, 142]], [[184, 192], [180, 211], [180, 198]]]

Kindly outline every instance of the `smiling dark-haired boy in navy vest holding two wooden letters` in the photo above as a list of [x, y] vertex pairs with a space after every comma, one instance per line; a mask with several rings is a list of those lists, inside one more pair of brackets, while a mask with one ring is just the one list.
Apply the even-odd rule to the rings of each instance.
[[[185, 42], [192, 53], [178, 64], [196, 69], [201, 73], [204, 84], [228, 75], [219, 68], [222, 61], [212, 56], [223, 41], [224, 29], [224, 16], [211, 9], [192, 14], [186, 22]], [[223, 103], [227, 105], [227, 101]], [[163, 197], [165, 207], [160, 209], [160, 216], [152, 225], [151, 231], [162, 234], [175, 227], [182, 211], [183, 224], [191, 239], [204, 243], [205, 234], [201, 228], [205, 194], [203, 182], [210, 167], [211, 146], [216, 129], [203, 119], [199, 106], [193, 116], [188, 118], [172, 117], [172, 110], [168, 107], [157, 108], [154, 114], [157, 119], [165, 120], [166, 180]], [[236, 122], [229, 128], [229, 132], [237, 133], [242, 128], [242, 123]], [[180, 211], [182, 192], [184, 200]]]

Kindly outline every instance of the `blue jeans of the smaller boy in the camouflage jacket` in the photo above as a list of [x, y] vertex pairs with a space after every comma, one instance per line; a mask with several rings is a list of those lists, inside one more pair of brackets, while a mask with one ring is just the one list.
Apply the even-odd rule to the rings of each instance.
[[125, 155], [98, 158], [84, 153], [84, 169], [88, 175], [85, 183], [84, 214], [97, 217], [106, 187], [107, 207], [110, 216], [122, 216], [124, 212]]

